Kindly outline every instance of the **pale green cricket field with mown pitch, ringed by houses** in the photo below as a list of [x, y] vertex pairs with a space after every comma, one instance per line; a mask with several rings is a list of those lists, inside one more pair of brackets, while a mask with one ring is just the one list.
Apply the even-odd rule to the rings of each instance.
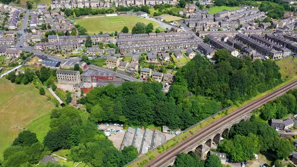
[[124, 26], [127, 26], [129, 31], [131, 31], [137, 22], [142, 22], [144, 24], [153, 23], [154, 27], [159, 27], [157, 22], [137, 16], [112, 16], [100, 18], [81, 18], [75, 20], [75, 24], [85, 27], [89, 34], [98, 34], [100, 31], [104, 33], [111, 33], [115, 31], [120, 32]]

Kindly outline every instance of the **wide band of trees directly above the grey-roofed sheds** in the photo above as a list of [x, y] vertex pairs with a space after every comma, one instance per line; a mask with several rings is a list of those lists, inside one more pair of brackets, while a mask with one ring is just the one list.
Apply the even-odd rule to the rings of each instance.
[[173, 86], [168, 95], [158, 82], [124, 82], [122, 86], [94, 88], [82, 98], [94, 122], [128, 125], [168, 125], [187, 128], [217, 113], [219, 104], [209, 98], [189, 96], [182, 86]]

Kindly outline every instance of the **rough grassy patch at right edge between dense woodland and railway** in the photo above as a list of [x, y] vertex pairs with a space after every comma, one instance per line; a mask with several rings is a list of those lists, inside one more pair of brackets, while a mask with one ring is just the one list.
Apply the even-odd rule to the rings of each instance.
[[297, 58], [292, 56], [275, 61], [279, 66], [282, 79], [291, 78], [297, 75]]

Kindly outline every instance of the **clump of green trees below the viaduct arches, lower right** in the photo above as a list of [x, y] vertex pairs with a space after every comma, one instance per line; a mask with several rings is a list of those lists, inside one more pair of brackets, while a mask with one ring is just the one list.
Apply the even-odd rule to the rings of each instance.
[[257, 121], [241, 121], [232, 126], [229, 139], [222, 141], [218, 150], [229, 155], [232, 161], [246, 161], [254, 158], [254, 153], [274, 153], [278, 159], [287, 157], [294, 146], [289, 140], [279, 137], [274, 128], [267, 123]]

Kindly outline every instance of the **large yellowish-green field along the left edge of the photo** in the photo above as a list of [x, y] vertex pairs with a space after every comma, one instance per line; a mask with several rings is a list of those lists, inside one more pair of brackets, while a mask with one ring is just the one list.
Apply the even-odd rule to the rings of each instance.
[[32, 122], [48, 115], [54, 104], [40, 96], [33, 84], [16, 85], [0, 79], [0, 158], [22, 131], [16, 126], [27, 127]]

